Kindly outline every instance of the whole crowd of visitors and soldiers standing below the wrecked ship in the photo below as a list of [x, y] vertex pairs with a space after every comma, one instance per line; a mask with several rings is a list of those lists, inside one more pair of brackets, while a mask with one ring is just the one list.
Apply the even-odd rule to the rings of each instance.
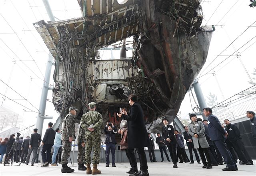
[[[144, 113], [142, 107], [138, 103], [138, 98], [135, 94], [128, 97], [130, 104], [130, 111], [126, 108], [121, 108], [117, 116], [122, 120], [120, 129], [113, 123], [106, 123], [104, 133], [106, 134], [106, 167], [110, 166], [110, 152], [112, 155], [112, 167], [115, 164], [115, 147], [116, 134], [121, 134], [121, 149], [125, 150], [126, 156], [130, 162], [130, 170], [126, 172], [129, 175], [135, 176], [149, 176], [148, 164], [144, 148], [148, 148], [149, 158], [151, 162], [157, 162], [155, 156], [155, 144], [152, 133], [147, 132], [144, 123]], [[88, 104], [89, 111], [82, 115], [80, 121], [80, 129], [78, 135], [78, 170], [86, 170], [86, 174], [100, 174], [98, 164], [100, 162], [100, 147], [101, 147], [101, 127], [102, 115], [96, 111], [96, 103]], [[62, 123], [62, 133], [60, 129], [52, 129], [53, 124], [48, 123], [43, 139], [37, 133], [38, 129], [34, 129], [31, 136], [23, 137], [17, 136], [19, 140], [15, 139], [15, 134], [11, 134], [9, 138], [0, 138], [0, 163], [5, 154], [4, 164], [12, 162], [26, 163], [30, 162], [30, 156], [33, 152], [31, 166], [38, 162], [38, 151], [42, 146], [42, 167], [57, 166], [58, 154], [62, 150], [60, 163], [62, 164], [61, 172], [70, 173], [74, 169], [68, 167], [68, 158], [70, 157], [72, 142], [75, 140], [75, 120], [76, 107], [70, 107], [69, 113], [64, 118]], [[202, 168], [212, 169], [213, 166], [226, 164], [223, 171], [236, 171], [238, 167], [236, 163], [253, 165], [250, 155], [244, 147], [240, 131], [236, 125], [232, 125], [228, 119], [224, 120], [226, 127], [224, 127], [218, 118], [212, 114], [212, 109], [204, 108], [203, 113], [208, 120], [197, 118], [196, 114], [190, 114], [191, 123], [184, 127], [182, 134], [170, 125], [167, 118], [162, 119], [162, 131], [158, 132], [156, 136], [156, 143], [159, 146], [161, 162], [164, 162], [163, 151], [168, 162], [172, 160], [173, 168], [178, 168], [179, 163], [194, 164], [193, 153], [196, 156], [196, 161], [200, 163], [202, 160]], [[256, 139], [256, 117], [253, 111], [247, 111], [246, 116], [250, 118], [252, 127], [252, 138]], [[19, 133], [18, 133], [19, 134]], [[162, 136], [161, 136], [162, 134]], [[184, 140], [188, 147], [190, 159], [186, 155]], [[16, 145], [13, 145], [16, 143]], [[15, 146], [15, 148], [13, 147]], [[93, 157], [91, 152], [93, 149]], [[136, 154], [138, 153], [140, 168], [138, 169]], [[170, 153], [168, 156], [167, 150]], [[197, 149], [197, 150], [196, 150]], [[52, 151], [52, 152], [51, 152]], [[200, 158], [198, 156], [198, 152]], [[52, 153], [52, 155], [51, 155]], [[91, 168], [91, 163], [93, 164]], [[86, 165], [86, 166], [85, 166]]]

